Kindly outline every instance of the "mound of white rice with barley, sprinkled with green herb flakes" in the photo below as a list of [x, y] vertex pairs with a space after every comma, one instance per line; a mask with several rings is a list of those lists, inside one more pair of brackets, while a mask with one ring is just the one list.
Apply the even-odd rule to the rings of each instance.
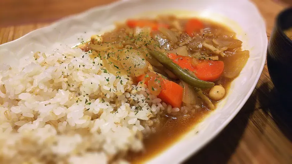
[[[0, 163], [127, 163], [171, 106], [79, 49], [0, 68]], [[175, 109], [177, 112], [178, 110]]]

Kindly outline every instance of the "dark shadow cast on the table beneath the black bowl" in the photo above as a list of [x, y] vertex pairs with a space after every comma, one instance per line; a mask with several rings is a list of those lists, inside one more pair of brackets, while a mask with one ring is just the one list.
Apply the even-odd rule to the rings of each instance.
[[276, 122], [281, 132], [292, 142], [292, 105], [291, 100], [285, 100], [285, 97], [277, 92], [276, 88], [269, 91], [267, 84], [260, 86], [258, 92], [259, 104], [262, 110], [269, 114]]

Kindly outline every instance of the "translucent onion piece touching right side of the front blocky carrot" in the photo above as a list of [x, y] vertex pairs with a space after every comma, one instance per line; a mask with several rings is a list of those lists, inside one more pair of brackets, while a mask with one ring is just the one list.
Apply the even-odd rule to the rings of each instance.
[[196, 92], [184, 81], [180, 81], [180, 85], [183, 88], [182, 102], [191, 105], [196, 104]]

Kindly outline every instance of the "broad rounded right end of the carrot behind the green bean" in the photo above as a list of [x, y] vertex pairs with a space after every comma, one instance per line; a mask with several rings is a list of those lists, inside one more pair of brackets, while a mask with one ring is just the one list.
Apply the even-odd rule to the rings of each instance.
[[204, 81], [216, 81], [224, 70], [223, 61], [199, 60], [195, 67], [195, 75]]

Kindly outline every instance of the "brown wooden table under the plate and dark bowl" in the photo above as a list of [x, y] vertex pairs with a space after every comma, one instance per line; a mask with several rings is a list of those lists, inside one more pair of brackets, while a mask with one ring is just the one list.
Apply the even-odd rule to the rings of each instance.
[[[0, 44], [47, 26], [66, 15], [115, 0], [1, 0]], [[253, 0], [266, 19], [267, 36], [276, 15], [291, 0]], [[248, 12], [248, 11], [247, 11]], [[292, 111], [273, 89], [265, 65], [252, 96], [235, 119], [186, 163], [292, 163]], [[289, 112], [290, 110], [290, 112]]]

